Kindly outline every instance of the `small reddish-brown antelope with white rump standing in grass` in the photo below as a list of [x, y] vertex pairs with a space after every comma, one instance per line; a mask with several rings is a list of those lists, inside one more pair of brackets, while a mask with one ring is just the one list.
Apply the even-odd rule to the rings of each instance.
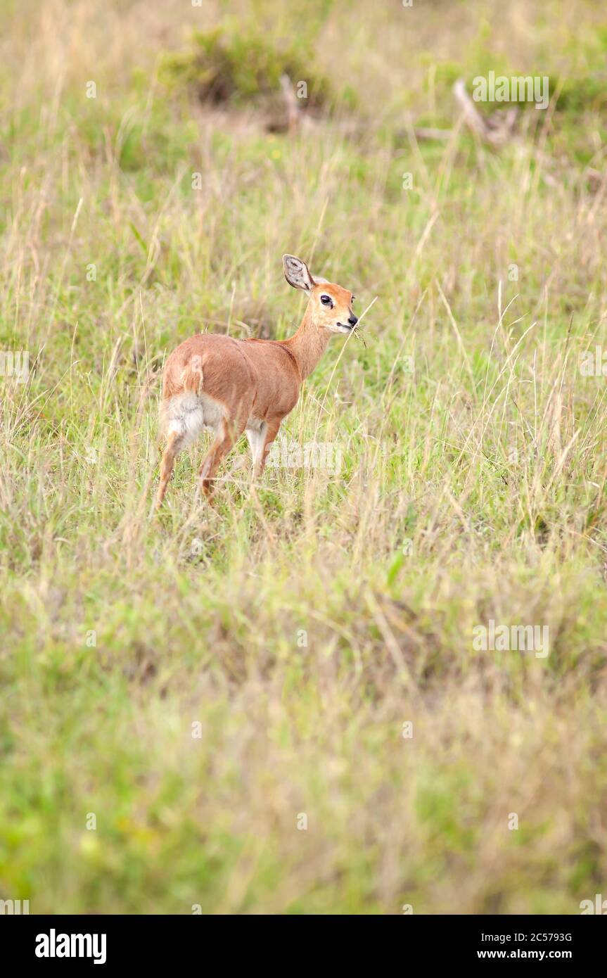
[[297, 403], [302, 381], [325, 352], [331, 333], [351, 333], [358, 323], [354, 296], [325, 279], [313, 279], [304, 261], [282, 256], [284, 278], [309, 301], [301, 326], [288, 339], [234, 339], [198, 333], [168, 357], [162, 378], [161, 429], [166, 447], [156, 506], [164, 499], [175, 458], [202, 428], [215, 440], [200, 466], [199, 489], [208, 496], [221, 460], [246, 431], [253, 472], [261, 474], [282, 419]]

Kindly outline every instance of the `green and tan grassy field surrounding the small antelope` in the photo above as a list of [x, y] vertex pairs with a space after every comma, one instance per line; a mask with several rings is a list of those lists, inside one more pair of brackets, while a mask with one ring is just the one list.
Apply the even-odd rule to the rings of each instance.
[[[5, 375], [29, 354], [0, 377], [0, 898], [579, 913], [607, 893], [604, 5], [0, 12]], [[200, 102], [222, 23], [301, 53], [313, 123]], [[550, 79], [499, 149], [452, 92], [491, 70]], [[251, 489], [242, 440], [210, 508], [199, 444], [151, 514], [163, 358], [291, 333], [284, 251], [370, 305], [283, 425], [339, 465]], [[479, 651], [491, 620], [549, 654]]]

